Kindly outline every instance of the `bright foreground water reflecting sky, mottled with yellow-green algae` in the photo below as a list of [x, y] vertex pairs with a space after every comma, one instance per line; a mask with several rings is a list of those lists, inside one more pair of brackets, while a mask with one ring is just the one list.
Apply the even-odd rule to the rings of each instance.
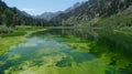
[[0, 56], [0, 74], [128, 74], [110, 65], [109, 59], [90, 53], [90, 44], [37, 32]]

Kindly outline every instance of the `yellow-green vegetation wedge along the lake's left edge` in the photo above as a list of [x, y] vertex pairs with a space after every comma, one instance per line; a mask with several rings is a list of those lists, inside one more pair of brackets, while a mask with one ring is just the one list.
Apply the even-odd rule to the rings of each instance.
[[14, 31], [0, 34], [0, 55], [8, 51], [12, 45], [18, 45], [30, 32], [42, 30], [38, 27], [18, 27]]

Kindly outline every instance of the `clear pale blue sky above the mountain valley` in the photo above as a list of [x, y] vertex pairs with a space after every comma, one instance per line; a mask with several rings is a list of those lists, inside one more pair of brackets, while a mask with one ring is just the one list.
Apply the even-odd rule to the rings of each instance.
[[87, 0], [3, 0], [9, 7], [16, 7], [32, 15], [44, 12], [64, 11], [76, 2]]

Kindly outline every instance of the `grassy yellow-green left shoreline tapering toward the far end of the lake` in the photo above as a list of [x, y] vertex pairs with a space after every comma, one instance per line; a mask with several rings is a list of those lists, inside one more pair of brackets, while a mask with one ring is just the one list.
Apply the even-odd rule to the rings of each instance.
[[[34, 28], [34, 27], [33, 27]], [[21, 28], [20, 28], [21, 29]], [[32, 28], [31, 28], [32, 29]], [[20, 42], [24, 41], [26, 36], [30, 34], [37, 32], [37, 31], [44, 31], [46, 29], [42, 28], [36, 28], [36, 30], [26, 30], [26, 31], [14, 31], [13, 33], [6, 33], [6, 34], [0, 34], [0, 56], [3, 55], [12, 45], [18, 45]], [[15, 32], [24, 32], [23, 34], [16, 34]]]

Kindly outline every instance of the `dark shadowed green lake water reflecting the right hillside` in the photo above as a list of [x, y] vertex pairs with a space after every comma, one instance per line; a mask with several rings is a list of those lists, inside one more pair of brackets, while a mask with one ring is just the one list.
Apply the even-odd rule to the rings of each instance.
[[[57, 33], [62, 32], [63, 34], [65, 33], [69, 36], [58, 38], [58, 41], [65, 41], [67, 45], [76, 50], [92, 53], [97, 57], [101, 59], [102, 62], [114, 65], [117, 68], [120, 68], [122, 71], [124, 70], [129, 73], [132, 73], [131, 28], [120, 30], [101, 29], [95, 30], [94, 32], [92, 30], [89, 31], [87, 29], [68, 29], [57, 31]], [[77, 36], [79, 39], [73, 36]]]

